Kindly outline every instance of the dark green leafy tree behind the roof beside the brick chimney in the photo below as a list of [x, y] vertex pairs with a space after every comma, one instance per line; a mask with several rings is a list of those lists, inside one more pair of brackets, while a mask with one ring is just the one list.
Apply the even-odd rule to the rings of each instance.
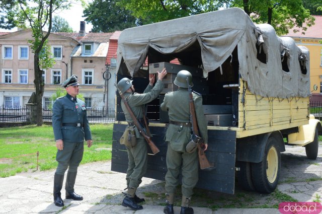
[[132, 16], [132, 12], [122, 6], [118, 1], [94, 0], [84, 10], [85, 21], [93, 25], [93, 32], [114, 32], [141, 25], [139, 19]]

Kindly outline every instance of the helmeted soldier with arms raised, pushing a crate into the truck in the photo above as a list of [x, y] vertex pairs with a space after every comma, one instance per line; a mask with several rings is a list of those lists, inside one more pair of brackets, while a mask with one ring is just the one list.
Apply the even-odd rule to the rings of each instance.
[[[138, 121], [142, 121], [143, 119], [142, 110], [143, 108], [145, 108], [145, 104], [154, 100], [164, 89], [164, 83], [162, 82], [162, 80], [166, 75], [166, 68], [164, 68], [162, 72], [158, 72], [158, 80], [153, 87], [155, 77], [154, 75], [150, 74], [149, 85], [146, 87], [143, 94], [135, 93], [132, 81], [128, 78], [123, 78], [118, 82], [117, 88], [124, 95], [124, 98], [127, 100], [128, 105], [130, 106], [133, 114], [136, 116]], [[133, 119], [131, 118], [127, 108], [125, 107], [123, 100], [121, 101], [121, 106], [125, 114], [125, 119], [128, 122], [129, 126], [134, 126]], [[144, 122], [141, 122], [141, 124], [144, 124]], [[133, 210], [138, 210], [142, 209], [143, 207], [142, 205], [139, 205], [137, 203], [144, 201], [144, 199], [137, 197], [135, 192], [137, 187], [142, 182], [141, 179], [147, 169], [147, 142], [145, 141], [145, 138], [139, 133], [137, 127], [135, 127], [134, 129], [137, 144], [133, 148], [126, 146], [129, 159], [128, 168], [126, 171], [127, 193], [122, 202], [122, 205]]]

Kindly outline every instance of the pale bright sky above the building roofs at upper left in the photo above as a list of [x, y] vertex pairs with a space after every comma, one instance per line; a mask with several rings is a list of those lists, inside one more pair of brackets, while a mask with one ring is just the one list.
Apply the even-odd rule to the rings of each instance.
[[[91, 1], [91, 0], [90, 0]], [[89, 0], [87, 2], [90, 2]], [[72, 27], [73, 31], [78, 32], [80, 28], [81, 21], [85, 21], [85, 17], [83, 16], [83, 8], [81, 3], [73, 3], [72, 7], [69, 10], [62, 11], [59, 13], [53, 14], [53, 16], [60, 16], [64, 18], [68, 24]], [[85, 31], [90, 32], [92, 30], [93, 25], [90, 23], [86, 23], [85, 25]], [[11, 30], [1, 29], [0, 32], [15, 32], [17, 31], [17, 28], [13, 28]]]

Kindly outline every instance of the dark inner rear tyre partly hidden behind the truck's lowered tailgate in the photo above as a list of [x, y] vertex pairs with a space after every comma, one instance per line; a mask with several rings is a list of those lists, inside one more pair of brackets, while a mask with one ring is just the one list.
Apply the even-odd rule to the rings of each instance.
[[240, 168], [240, 171], [236, 172], [238, 186], [246, 191], [255, 191], [252, 180], [251, 163], [236, 161], [236, 167]]

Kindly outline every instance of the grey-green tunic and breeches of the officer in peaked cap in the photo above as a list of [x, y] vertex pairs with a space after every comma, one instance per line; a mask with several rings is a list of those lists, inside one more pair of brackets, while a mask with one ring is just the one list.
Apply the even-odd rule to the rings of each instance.
[[[77, 127], [77, 123], [79, 127]], [[57, 150], [57, 174], [76, 172], [83, 159], [84, 138], [92, 139], [85, 102], [66, 94], [59, 97], [52, 107], [52, 127], [55, 140], [62, 139], [63, 150]]]

